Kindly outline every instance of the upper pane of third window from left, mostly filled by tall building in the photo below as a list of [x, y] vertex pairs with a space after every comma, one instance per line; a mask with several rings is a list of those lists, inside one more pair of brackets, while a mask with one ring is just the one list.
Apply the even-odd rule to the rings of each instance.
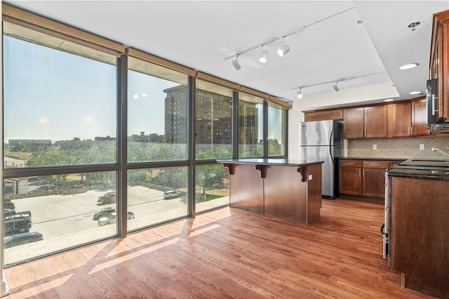
[[196, 81], [196, 159], [232, 157], [232, 90]]

